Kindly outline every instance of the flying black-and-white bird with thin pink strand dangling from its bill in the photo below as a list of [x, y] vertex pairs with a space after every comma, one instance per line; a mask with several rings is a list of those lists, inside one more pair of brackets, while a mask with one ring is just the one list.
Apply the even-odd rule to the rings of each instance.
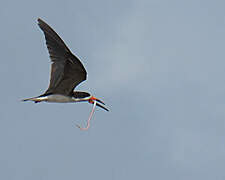
[[[96, 106], [109, 111], [104, 102], [87, 92], [74, 91], [74, 88], [87, 79], [87, 72], [81, 61], [69, 50], [59, 35], [43, 20], [38, 19], [38, 25], [44, 32], [46, 45], [52, 61], [50, 84], [46, 92], [40, 96], [24, 99], [23, 101], [73, 103], [87, 101], [93, 104], [91, 114], [85, 128], [90, 127], [90, 120]], [[101, 105], [101, 104], [103, 105]]]

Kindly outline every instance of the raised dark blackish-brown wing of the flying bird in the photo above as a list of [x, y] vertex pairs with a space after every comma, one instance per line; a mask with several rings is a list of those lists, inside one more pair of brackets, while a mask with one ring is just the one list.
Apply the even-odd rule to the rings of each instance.
[[38, 25], [44, 32], [52, 61], [50, 84], [45, 94], [70, 95], [79, 83], [86, 80], [87, 72], [80, 60], [71, 53], [59, 35], [47, 23], [38, 19]]

